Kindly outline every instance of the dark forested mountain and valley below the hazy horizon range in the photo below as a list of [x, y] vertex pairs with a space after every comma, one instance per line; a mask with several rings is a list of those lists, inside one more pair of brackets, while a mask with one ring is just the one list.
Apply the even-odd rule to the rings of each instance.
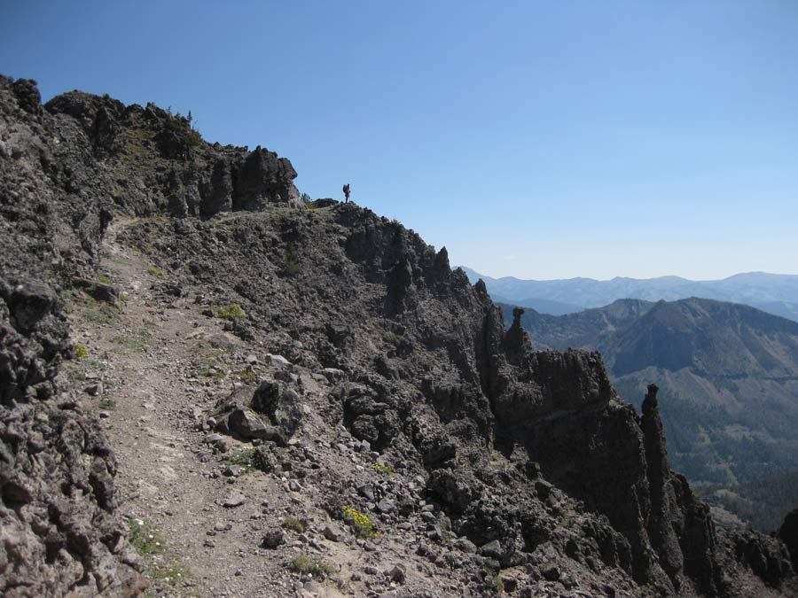
[[599, 350], [638, 408], [646, 384], [658, 384], [669, 457], [693, 481], [733, 487], [798, 470], [798, 322], [693, 298], [528, 309], [521, 324], [537, 348]]

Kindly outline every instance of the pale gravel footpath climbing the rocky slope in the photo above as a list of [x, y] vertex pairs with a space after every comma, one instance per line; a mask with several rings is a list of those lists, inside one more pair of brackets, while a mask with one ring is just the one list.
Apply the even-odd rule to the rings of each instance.
[[[264, 566], [262, 549], [252, 548], [259, 543], [252, 536], [260, 532], [261, 520], [273, 518], [270, 513], [280, 507], [271, 496], [274, 484], [263, 476], [219, 476], [218, 459], [201, 444], [207, 432], [197, 425], [225, 384], [197, 377], [208, 354], [221, 353], [207, 340], [229, 343], [233, 361], [240, 359], [239, 341], [197, 313], [188, 299], [176, 299], [172, 308], [158, 306], [152, 287], [163, 282], [164, 273], [117, 241], [129, 222], [114, 221], [100, 268], [127, 300], [118, 313], [75, 302], [75, 340], [89, 356], [74, 377], [89, 386], [102, 381], [103, 391], [88, 397], [84, 408], [99, 412], [116, 454], [119, 509], [130, 518], [134, 543], [145, 553], [151, 591], [279, 595], [280, 588], [292, 586], [290, 577]], [[229, 454], [235, 454], [236, 443], [230, 442]], [[236, 493], [246, 497], [244, 504], [224, 508], [223, 501]]]

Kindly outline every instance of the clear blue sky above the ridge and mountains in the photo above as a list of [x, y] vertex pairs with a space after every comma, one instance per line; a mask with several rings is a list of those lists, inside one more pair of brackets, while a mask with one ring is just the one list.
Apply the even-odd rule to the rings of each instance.
[[3, 0], [0, 72], [191, 109], [490, 276], [798, 274], [795, 0]]

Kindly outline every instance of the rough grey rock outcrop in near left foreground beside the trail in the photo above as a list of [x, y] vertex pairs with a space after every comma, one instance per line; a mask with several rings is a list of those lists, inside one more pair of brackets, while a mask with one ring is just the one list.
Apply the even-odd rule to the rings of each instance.
[[113, 453], [97, 425], [58, 395], [67, 332], [51, 288], [0, 281], [4, 596], [111, 596], [142, 586], [114, 516]]

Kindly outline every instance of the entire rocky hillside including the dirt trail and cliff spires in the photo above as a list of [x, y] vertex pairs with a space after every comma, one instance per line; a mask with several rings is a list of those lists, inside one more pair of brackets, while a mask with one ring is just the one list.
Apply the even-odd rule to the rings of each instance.
[[798, 593], [792, 527], [716, 529], [670, 469], [656, 387], [295, 176], [0, 79], [0, 592]]

